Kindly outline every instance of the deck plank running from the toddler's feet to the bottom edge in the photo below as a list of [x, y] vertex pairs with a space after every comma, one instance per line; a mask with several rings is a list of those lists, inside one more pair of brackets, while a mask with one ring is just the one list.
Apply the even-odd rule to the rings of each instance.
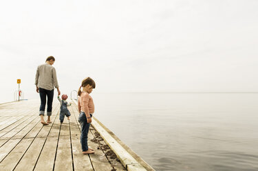
[[69, 121], [65, 117], [61, 124], [54, 170], [73, 170]]

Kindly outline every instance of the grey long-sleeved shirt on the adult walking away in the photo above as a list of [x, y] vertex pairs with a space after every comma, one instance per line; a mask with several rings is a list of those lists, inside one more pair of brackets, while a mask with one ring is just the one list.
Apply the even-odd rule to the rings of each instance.
[[58, 88], [56, 69], [48, 63], [44, 63], [36, 69], [35, 85], [45, 90]]

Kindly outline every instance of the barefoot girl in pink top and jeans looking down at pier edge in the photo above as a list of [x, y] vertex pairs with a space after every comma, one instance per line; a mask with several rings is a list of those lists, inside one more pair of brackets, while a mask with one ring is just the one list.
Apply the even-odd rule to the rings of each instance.
[[[83, 88], [81, 91], [80, 89]], [[83, 154], [93, 154], [94, 150], [88, 147], [88, 132], [89, 125], [92, 123], [92, 114], [94, 113], [94, 102], [89, 95], [95, 88], [95, 82], [93, 79], [87, 77], [83, 79], [81, 86], [78, 90], [78, 111], [80, 116], [78, 121], [81, 126], [80, 143], [83, 150]]]

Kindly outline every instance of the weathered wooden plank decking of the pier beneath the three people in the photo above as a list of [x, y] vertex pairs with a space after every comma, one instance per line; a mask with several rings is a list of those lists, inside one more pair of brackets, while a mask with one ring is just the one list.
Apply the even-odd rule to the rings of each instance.
[[[80, 148], [80, 126], [76, 105], [68, 107], [69, 121], [59, 121], [59, 103], [54, 101], [52, 121], [43, 126], [39, 101], [0, 105], [0, 170], [125, 170], [94, 128], [89, 146], [95, 154], [84, 155]], [[46, 116], [45, 116], [46, 118]]]

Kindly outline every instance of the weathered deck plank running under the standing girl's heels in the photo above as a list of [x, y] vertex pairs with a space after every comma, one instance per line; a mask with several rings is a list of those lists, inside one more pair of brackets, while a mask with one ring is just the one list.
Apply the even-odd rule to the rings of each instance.
[[[70, 130], [72, 135], [72, 155], [74, 159], [74, 170], [88, 170], [93, 171], [92, 163], [89, 159], [89, 155], [82, 154], [80, 145], [80, 130], [78, 128], [76, 117], [73, 108], [70, 110]], [[77, 112], [77, 111], [76, 111]]]

